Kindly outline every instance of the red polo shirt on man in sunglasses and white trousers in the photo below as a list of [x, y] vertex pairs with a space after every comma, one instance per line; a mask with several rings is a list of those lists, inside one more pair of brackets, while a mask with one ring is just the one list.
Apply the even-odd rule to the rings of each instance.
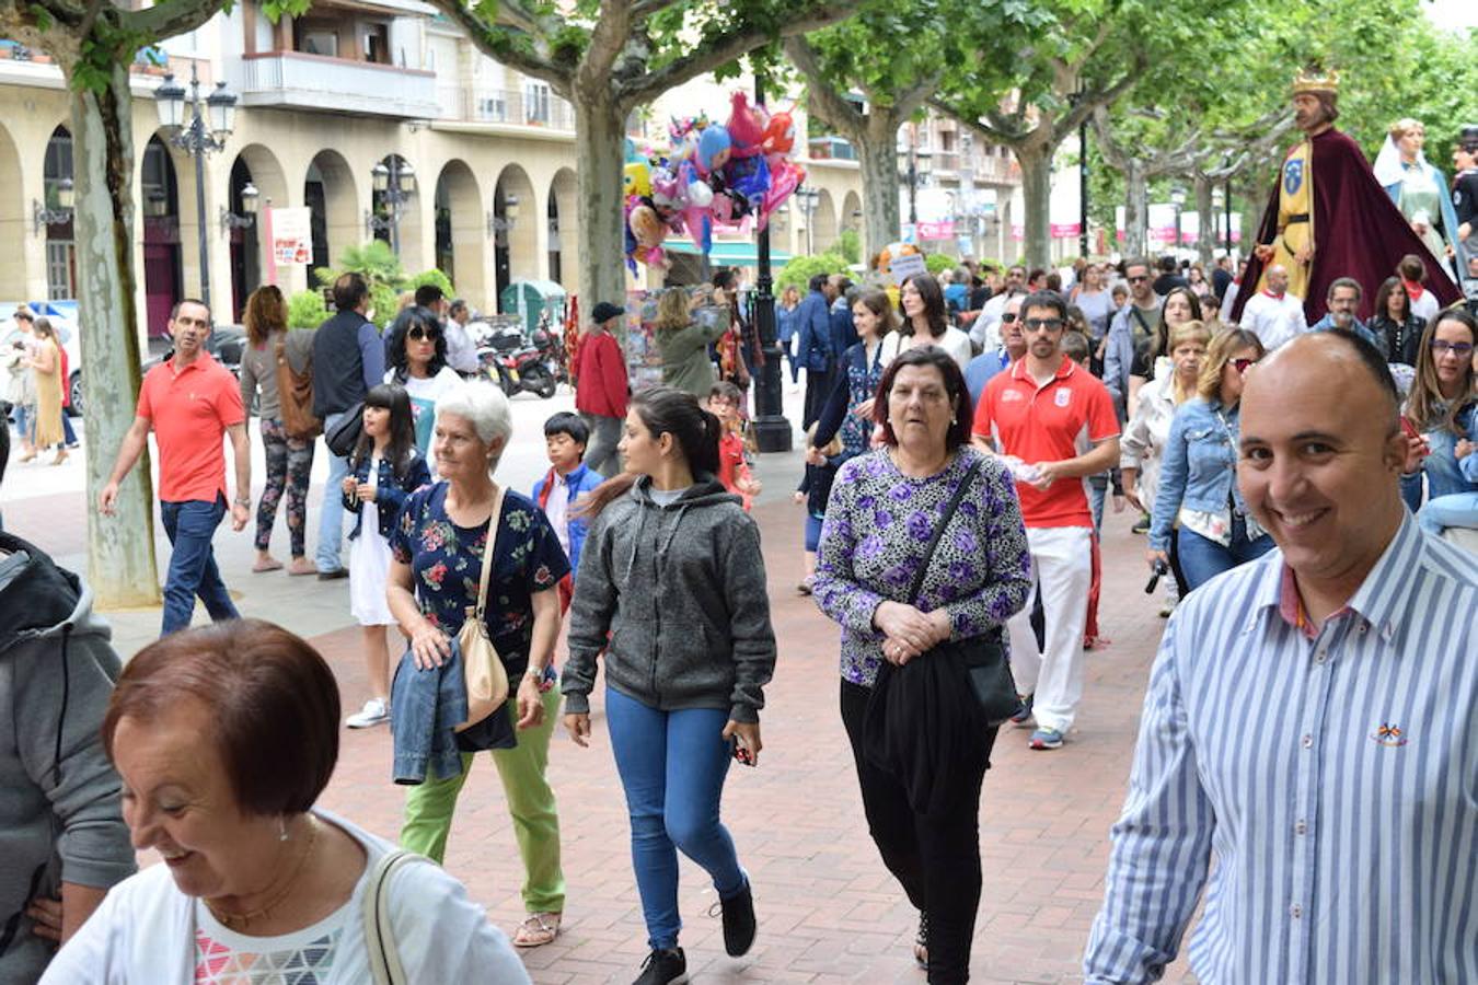
[[[1092, 445], [1119, 436], [1113, 397], [1091, 372], [1063, 356], [1057, 375], [1039, 387], [1026, 362], [1015, 360], [986, 384], [975, 406], [975, 434], [992, 439], [1002, 455], [1027, 464], [1077, 458]], [[1029, 527], [1094, 526], [1082, 480], [1060, 480], [1046, 492], [1018, 481], [1017, 496]]]

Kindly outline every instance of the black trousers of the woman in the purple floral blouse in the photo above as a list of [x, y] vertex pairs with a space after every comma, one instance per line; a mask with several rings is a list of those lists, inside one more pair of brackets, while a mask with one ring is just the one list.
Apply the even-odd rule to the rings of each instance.
[[[841, 721], [851, 743], [862, 787], [868, 833], [882, 864], [903, 885], [909, 902], [928, 914], [930, 985], [970, 981], [970, 939], [980, 908], [980, 784], [974, 796], [947, 818], [927, 818], [909, 806], [902, 783], [868, 762], [862, 753], [862, 725], [872, 688], [841, 682]], [[995, 730], [983, 737], [995, 741]]]

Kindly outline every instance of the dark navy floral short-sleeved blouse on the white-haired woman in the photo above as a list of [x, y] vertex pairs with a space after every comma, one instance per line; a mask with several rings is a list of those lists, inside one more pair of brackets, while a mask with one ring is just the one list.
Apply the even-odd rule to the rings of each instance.
[[[445, 481], [423, 486], [406, 501], [390, 535], [395, 560], [411, 566], [421, 614], [455, 636], [477, 604], [488, 524], [460, 527], [446, 515]], [[569, 560], [554, 527], [532, 499], [508, 489], [503, 498], [498, 543], [488, 580], [488, 636], [508, 670], [523, 673], [534, 639], [534, 594], [559, 585]]]

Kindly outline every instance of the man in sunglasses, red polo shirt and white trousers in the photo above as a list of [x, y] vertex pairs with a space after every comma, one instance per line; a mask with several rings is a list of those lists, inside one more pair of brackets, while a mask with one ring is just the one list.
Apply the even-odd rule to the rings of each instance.
[[1107, 387], [1063, 353], [1067, 303], [1038, 291], [1021, 303], [1024, 359], [986, 384], [975, 445], [1005, 456], [1017, 478], [1032, 580], [1046, 616], [1046, 647], [1032, 605], [1011, 617], [1011, 670], [1036, 716], [1032, 749], [1058, 749], [1083, 694], [1083, 622], [1092, 582], [1092, 512], [1083, 478], [1119, 461], [1119, 419]]

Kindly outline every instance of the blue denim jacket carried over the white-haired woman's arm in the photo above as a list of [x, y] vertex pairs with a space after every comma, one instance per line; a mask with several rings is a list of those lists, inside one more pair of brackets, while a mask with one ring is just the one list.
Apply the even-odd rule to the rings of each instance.
[[452, 731], [467, 721], [467, 682], [461, 647], [451, 641], [451, 656], [439, 667], [420, 670], [406, 648], [390, 685], [390, 735], [395, 743], [392, 780], [405, 786], [426, 781], [427, 768], [439, 780], [461, 775], [461, 753], [483, 749], [513, 749], [510, 704], [464, 732]]

